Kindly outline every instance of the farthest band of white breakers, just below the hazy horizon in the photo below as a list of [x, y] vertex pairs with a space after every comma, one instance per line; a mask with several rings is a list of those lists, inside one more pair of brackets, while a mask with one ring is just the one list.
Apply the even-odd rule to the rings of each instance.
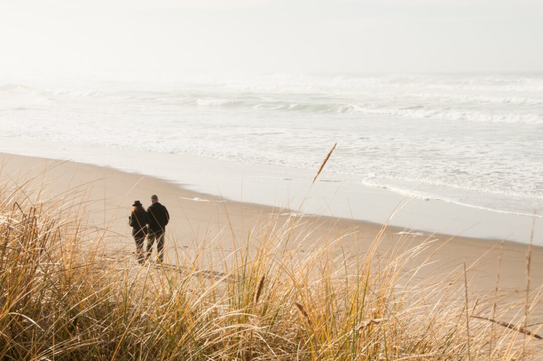
[[[136, 80], [134, 80], [136, 79]], [[107, 83], [73, 79], [72, 88], [61, 90], [61, 94], [96, 96], [98, 92], [165, 91], [171, 93], [180, 89], [207, 89], [235, 93], [269, 94], [333, 94], [335, 91], [359, 93], [363, 91], [409, 92], [410, 90], [454, 90], [456, 92], [490, 91], [514, 92], [525, 97], [529, 92], [543, 91], [543, 74], [255, 74], [255, 73], [186, 73], [172, 74], [169, 79], [147, 79], [138, 81], [134, 77], [127, 84], [118, 79]], [[10, 79], [12, 80], [12, 79]], [[115, 80], [115, 82], [111, 82]], [[15, 83], [19, 83], [15, 80]], [[66, 87], [66, 82], [62, 85]], [[107, 85], [106, 85], [107, 84]], [[25, 86], [27, 86], [26, 84]], [[14, 83], [0, 85], [0, 91], [10, 90]], [[129, 88], [127, 88], [127, 86]], [[83, 89], [79, 89], [83, 88]], [[91, 88], [91, 89], [87, 89]], [[92, 89], [99, 88], [99, 89]], [[39, 86], [36, 87], [40, 89]], [[87, 89], [87, 90], [85, 90]], [[108, 89], [108, 90], [106, 90]], [[53, 91], [48, 89], [48, 91]], [[428, 92], [430, 93], [430, 92]]]

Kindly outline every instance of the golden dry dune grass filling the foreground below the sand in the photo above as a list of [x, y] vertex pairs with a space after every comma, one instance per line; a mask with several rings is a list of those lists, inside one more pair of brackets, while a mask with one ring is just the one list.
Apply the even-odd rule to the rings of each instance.
[[243, 239], [232, 232], [232, 251], [218, 259], [210, 234], [175, 264], [140, 266], [131, 254], [109, 257], [111, 235], [88, 225], [80, 192], [42, 200], [28, 184], [0, 187], [0, 359], [543, 355], [539, 330], [527, 323], [539, 293], [507, 302], [497, 292], [473, 295], [463, 269], [421, 279], [425, 262], [412, 260], [431, 240], [400, 238], [382, 250], [380, 233], [364, 251], [346, 253], [345, 234], [330, 232], [324, 246], [302, 252], [296, 245], [311, 229], [270, 216]]

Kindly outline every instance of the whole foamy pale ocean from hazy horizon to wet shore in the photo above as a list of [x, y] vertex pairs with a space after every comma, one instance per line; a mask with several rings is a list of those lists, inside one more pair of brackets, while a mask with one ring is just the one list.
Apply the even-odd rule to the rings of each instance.
[[[2, 136], [316, 171], [543, 213], [543, 74], [0, 77]], [[265, 175], [263, 175], [265, 176]]]

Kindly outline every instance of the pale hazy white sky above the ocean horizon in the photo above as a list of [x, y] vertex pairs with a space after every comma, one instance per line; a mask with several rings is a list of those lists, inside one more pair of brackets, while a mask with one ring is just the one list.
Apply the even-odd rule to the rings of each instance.
[[0, 71], [543, 70], [541, 0], [0, 0]]

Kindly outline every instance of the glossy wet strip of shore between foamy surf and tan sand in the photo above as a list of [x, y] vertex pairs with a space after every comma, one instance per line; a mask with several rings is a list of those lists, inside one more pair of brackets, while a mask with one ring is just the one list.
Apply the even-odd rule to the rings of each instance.
[[[108, 166], [125, 172], [165, 179], [197, 193], [302, 213], [386, 222], [402, 204], [390, 225], [424, 234], [451, 234], [470, 238], [530, 242], [543, 246], [543, 219], [463, 206], [457, 203], [407, 197], [388, 189], [338, 181], [326, 167], [311, 187], [313, 170], [236, 163], [190, 155], [149, 153], [95, 146], [36, 142], [0, 137], [0, 152], [73, 160]], [[137, 162], [135, 161], [137, 159]], [[135, 164], [137, 163], [137, 164]]]

